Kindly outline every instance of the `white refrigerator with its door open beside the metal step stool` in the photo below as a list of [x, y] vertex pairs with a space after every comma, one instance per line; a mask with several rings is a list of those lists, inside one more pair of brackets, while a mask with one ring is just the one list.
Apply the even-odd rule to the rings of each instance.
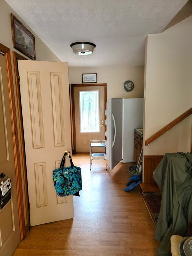
[[134, 129], [143, 128], [143, 98], [110, 98], [105, 114], [106, 159], [112, 170], [120, 161], [134, 162]]

